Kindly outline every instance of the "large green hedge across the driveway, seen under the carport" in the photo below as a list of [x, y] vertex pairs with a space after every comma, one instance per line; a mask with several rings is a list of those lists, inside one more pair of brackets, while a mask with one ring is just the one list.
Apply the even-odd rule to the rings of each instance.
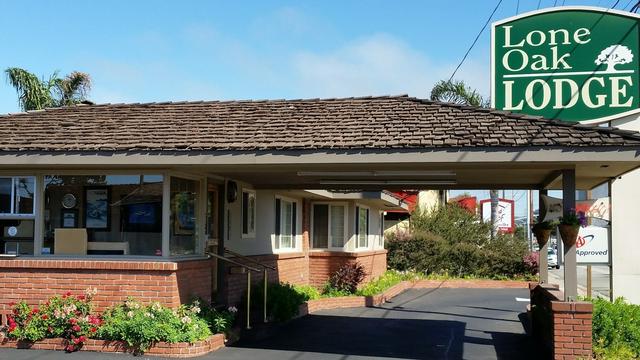
[[387, 249], [389, 267], [401, 271], [494, 279], [533, 275], [522, 236], [492, 240], [488, 224], [456, 205], [414, 212], [410, 231], [388, 236]]

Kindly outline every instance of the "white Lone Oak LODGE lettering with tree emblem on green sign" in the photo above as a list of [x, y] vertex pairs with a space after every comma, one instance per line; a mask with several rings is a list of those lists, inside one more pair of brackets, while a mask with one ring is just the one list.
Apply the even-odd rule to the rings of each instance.
[[[631, 61], [633, 55], [629, 55], [628, 48], [614, 45], [602, 50], [600, 55], [595, 53], [595, 64], [608, 66], [605, 70], [588, 71], [574, 68], [572, 64], [575, 49], [592, 41], [588, 28], [532, 30], [519, 36], [514, 35], [512, 28], [513, 25], [502, 26], [504, 52], [500, 63], [505, 70], [501, 79], [504, 110], [634, 106], [630, 90], [635, 85], [634, 78], [627, 75], [629, 70], [615, 68], [617, 64]], [[624, 55], [619, 55], [623, 52]], [[619, 60], [621, 56], [631, 58], [623, 62]]]

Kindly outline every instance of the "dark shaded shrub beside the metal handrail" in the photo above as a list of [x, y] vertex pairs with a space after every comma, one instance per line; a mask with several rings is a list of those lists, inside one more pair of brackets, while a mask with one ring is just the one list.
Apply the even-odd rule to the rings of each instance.
[[[262, 285], [251, 290], [251, 305], [262, 309], [264, 291]], [[309, 300], [305, 293], [298, 292], [288, 283], [271, 283], [267, 288], [267, 315], [272, 320], [287, 321], [298, 315], [300, 305]]]

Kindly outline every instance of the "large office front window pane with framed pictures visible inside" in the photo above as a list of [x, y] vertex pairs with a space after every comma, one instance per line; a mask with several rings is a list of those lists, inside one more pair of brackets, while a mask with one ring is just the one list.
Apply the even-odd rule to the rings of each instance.
[[[162, 175], [48, 175], [44, 185], [43, 254], [86, 234], [88, 255], [162, 255]], [[56, 237], [61, 228], [77, 230]]]

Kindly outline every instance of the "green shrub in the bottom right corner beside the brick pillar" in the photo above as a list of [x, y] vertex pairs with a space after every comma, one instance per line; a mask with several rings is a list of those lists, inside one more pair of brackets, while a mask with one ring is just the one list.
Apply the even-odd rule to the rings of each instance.
[[640, 305], [593, 301], [593, 350], [599, 359], [640, 357]]

